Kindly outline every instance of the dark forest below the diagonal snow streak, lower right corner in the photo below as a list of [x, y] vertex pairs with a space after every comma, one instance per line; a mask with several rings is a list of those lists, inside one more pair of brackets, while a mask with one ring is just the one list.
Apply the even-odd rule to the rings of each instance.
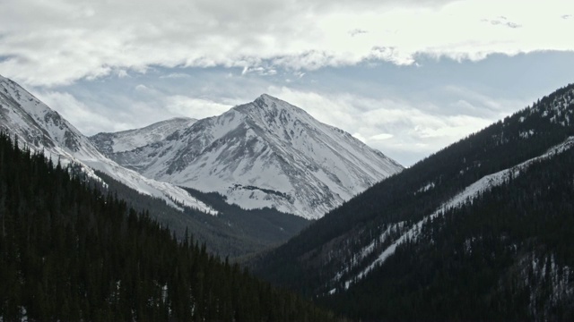
[[347, 292], [350, 318], [574, 320], [574, 148], [422, 225]]

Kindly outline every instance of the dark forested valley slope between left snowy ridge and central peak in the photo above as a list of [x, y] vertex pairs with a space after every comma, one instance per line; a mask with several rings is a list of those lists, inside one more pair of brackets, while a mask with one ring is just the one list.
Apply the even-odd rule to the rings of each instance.
[[152, 219], [168, 226], [178, 239], [183, 238], [187, 230], [197, 241], [206, 243], [207, 252], [222, 258], [234, 260], [276, 246], [310, 223], [303, 217], [283, 214], [275, 209], [242, 209], [227, 204], [217, 193], [189, 188], [184, 189], [215, 209], [217, 216], [181, 204], [181, 209], [176, 209], [163, 199], [143, 195], [107, 174], [99, 171], [96, 174], [106, 182], [106, 189], [102, 191], [109, 191], [118, 199], [126, 200], [128, 206], [136, 211], [149, 210]]

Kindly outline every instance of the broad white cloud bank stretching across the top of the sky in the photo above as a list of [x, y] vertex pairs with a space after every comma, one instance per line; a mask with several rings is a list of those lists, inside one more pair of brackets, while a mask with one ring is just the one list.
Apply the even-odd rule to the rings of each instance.
[[27, 85], [126, 76], [151, 65], [236, 66], [273, 75], [278, 67], [314, 70], [370, 59], [413, 64], [422, 53], [481, 59], [574, 50], [564, 36], [574, 31], [574, 2], [566, 0], [5, 0], [2, 6], [0, 73]]

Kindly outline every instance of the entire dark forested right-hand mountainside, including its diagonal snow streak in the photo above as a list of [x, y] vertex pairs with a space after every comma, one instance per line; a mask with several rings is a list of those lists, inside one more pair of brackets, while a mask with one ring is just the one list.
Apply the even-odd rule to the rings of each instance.
[[574, 318], [574, 85], [444, 148], [253, 260], [363, 320]]

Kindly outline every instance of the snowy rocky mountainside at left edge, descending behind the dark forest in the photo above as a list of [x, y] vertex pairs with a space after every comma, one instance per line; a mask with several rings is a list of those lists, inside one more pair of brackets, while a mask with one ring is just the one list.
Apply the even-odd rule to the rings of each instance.
[[[0, 131], [11, 136], [16, 135], [21, 144], [25, 143], [31, 150], [43, 151], [55, 162], [59, 160], [64, 165], [69, 163], [80, 165], [83, 171], [92, 177], [97, 177], [93, 169], [99, 170], [136, 191], [165, 199], [174, 207], [176, 205], [171, 199], [214, 214], [213, 210], [191, 197], [187, 191], [167, 182], [146, 178], [117, 165], [102, 155], [88, 138], [60, 114], [12, 80], [2, 76], [0, 76]], [[161, 137], [161, 134], [158, 135], [157, 137]]]

